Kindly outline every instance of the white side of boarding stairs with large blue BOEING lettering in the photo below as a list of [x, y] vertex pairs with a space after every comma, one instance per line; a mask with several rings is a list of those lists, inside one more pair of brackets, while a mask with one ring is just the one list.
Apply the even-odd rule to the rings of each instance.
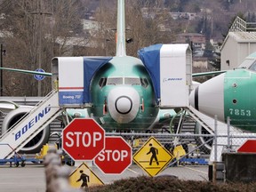
[[39, 101], [28, 114], [4, 132], [0, 137], [0, 159], [11, 158], [23, 148], [37, 133], [44, 130], [62, 112], [59, 94], [52, 90], [44, 100]]

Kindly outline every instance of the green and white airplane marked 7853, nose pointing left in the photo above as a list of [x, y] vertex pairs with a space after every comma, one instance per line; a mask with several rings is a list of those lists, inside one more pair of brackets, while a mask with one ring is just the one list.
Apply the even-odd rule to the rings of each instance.
[[[233, 70], [200, 84], [189, 95], [193, 108], [206, 116], [230, 124], [243, 132], [256, 131], [256, 52]], [[200, 133], [200, 132], [198, 132]]]

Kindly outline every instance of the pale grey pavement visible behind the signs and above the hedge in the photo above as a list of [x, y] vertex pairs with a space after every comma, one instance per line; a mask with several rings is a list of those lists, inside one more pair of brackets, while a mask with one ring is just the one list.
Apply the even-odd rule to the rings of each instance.
[[[146, 175], [137, 165], [133, 164], [122, 175], [104, 175], [100, 170], [92, 166], [100, 180], [105, 184], [114, 180], [128, 177], [137, 177]], [[159, 175], [175, 175], [182, 180], [207, 180], [207, 166], [186, 166], [186, 167], [169, 167]], [[0, 165], [0, 192], [45, 192], [45, 175], [44, 166], [27, 164], [25, 167], [9, 167]]]

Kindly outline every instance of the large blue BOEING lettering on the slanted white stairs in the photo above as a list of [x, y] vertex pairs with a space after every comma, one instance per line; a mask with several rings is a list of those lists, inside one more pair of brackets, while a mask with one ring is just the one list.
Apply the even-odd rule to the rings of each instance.
[[44, 108], [40, 113], [38, 113], [34, 118], [32, 118], [28, 124], [22, 127], [22, 129], [15, 134], [15, 140], [19, 140], [20, 137], [28, 132], [28, 130], [33, 127], [37, 122], [39, 122], [44, 116], [51, 110], [51, 108], [48, 106]]

